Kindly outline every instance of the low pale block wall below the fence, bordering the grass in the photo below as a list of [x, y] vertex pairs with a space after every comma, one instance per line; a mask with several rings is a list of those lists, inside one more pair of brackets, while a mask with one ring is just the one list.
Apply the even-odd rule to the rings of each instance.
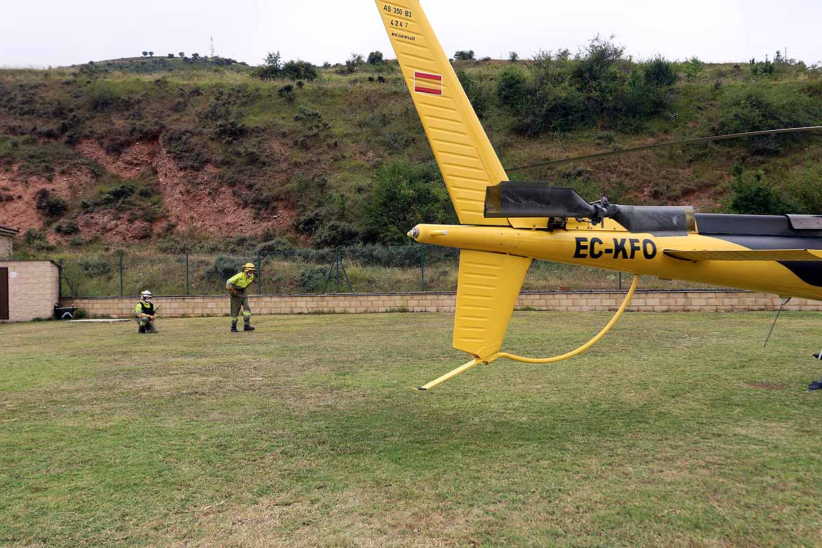
[[[561, 312], [616, 311], [625, 292], [524, 292], [520, 309]], [[84, 297], [63, 299], [64, 306], [84, 308], [92, 316], [131, 318], [139, 297]], [[249, 297], [255, 315], [270, 314], [361, 314], [365, 312], [454, 312], [456, 294], [381, 293], [339, 295], [261, 295]], [[731, 312], [773, 311], [779, 297], [745, 291], [649, 291], [636, 292], [629, 311], [640, 312]], [[229, 315], [229, 297], [155, 296], [164, 317]], [[822, 311], [822, 302], [793, 299], [785, 310]]]

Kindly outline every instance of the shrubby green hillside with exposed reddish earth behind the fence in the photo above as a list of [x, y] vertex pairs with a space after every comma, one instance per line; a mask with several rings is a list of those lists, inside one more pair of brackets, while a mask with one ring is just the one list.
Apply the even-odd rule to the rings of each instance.
[[[0, 71], [0, 224], [25, 219], [19, 249], [37, 253], [390, 244], [414, 223], [452, 221], [399, 68], [373, 60], [309, 69], [133, 58]], [[634, 62], [594, 39], [574, 58], [455, 68], [506, 166], [822, 124], [822, 70], [801, 63]], [[626, 204], [822, 213], [820, 157], [822, 139], [805, 134], [511, 176]]]

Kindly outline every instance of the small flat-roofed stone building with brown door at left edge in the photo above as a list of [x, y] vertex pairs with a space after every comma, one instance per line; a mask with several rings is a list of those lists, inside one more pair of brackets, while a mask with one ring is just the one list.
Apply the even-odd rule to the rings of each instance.
[[60, 267], [51, 260], [0, 260], [0, 322], [48, 318], [60, 300]]

